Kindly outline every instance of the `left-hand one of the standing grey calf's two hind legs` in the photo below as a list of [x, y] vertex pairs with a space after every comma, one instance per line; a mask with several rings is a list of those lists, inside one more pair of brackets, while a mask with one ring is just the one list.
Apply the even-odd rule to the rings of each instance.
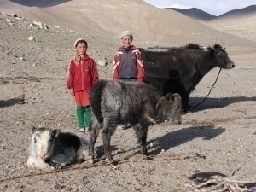
[[97, 121], [96, 117], [92, 115], [90, 125], [90, 142], [89, 142], [89, 162], [94, 163], [94, 145], [99, 135], [102, 125]]

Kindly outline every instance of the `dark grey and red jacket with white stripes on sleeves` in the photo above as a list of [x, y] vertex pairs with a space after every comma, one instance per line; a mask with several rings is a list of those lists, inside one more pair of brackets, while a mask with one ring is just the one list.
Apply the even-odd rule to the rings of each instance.
[[137, 78], [138, 81], [143, 81], [145, 76], [141, 52], [134, 45], [131, 45], [128, 50], [120, 47], [113, 57], [112, 78], [115, 80], [130, 78], [122, 77], [122, 75], [129, 73], [134, 73], [132, 76], [135, 76], [133, 78]]

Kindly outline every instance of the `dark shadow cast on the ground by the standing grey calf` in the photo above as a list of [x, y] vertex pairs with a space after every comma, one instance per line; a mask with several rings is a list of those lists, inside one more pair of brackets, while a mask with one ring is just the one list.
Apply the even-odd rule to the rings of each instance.
[[148, 143], [154, 143], [154, 147], [150, 148], [149, 154], [160, 154], [162, 149], [168, 150], [180, 144], [192, 141], [197, 137], [203, 137], [204, 140], [210, 140], [218, 137], [225, 131], [224, 128], [215, 128], [213, 125], [192, 126], [177, 131], [171, 131], [162, 137], [152, 139]]

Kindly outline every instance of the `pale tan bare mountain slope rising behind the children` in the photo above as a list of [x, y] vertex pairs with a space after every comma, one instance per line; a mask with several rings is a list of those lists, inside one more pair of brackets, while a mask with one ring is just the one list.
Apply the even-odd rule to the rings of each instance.
[[218, 44], [224, 42], [230, 47], [256, 46], [255, 42], [220, 32], [177, 11], [155, 8], [142, 0], [109, 0], [108, 3], [73, 0], [44, 9], [27, 7], [17, 13], [29, 20], [61, 26], [112, 44], [120, 43], [122, 31], [131, 30], [134, 44], [141, 47], [181, 46], [190, 42], [212, 45], [216, 39]]

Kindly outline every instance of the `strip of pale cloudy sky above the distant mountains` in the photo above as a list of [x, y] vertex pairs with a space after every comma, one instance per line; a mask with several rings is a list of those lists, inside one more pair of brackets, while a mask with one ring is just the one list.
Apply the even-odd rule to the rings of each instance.
[[219, 16], [234, 10], [256, 5], [255, 0], [143, 0], [159, 8], [201, 9], [208, 14]]

